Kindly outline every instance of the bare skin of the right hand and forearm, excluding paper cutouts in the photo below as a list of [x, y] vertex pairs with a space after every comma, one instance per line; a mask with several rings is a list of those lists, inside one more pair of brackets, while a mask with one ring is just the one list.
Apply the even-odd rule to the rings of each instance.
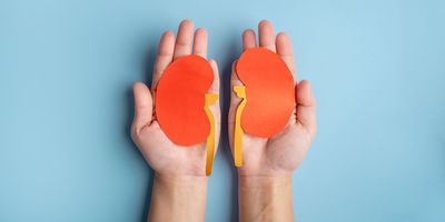
[[[290, 38], [279, 32], [274, 34], [269, 21], [258, 24], [258, 41], [254, 30], [243, 33], [244, 50], [265, 47], [286, 62], [296, 81], [295, 61]], [[234, 65], [235, 67], [235, 63]], [[243, 84], [235, 69], [231, 89]], [[273, 138], [263, 139], [243, 135], [243, 167], [238, 168], [239, 221], [294, 221], [291, 200], [291, 175], [306, 155], [316, 133], [315, 99], [309, 82], [303, 80], [295, 85], [296, 108], [289, 122]], [[235, 113], [240, 99], [231, 93], [229, 109], [229, 141], [233, 148]]]

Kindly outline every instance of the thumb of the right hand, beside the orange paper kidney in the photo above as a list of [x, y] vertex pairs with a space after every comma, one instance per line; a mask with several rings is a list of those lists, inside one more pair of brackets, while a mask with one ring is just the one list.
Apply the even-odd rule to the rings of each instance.
[[316, 131], [315, 98], [307, 80], [296, 85], [297, 97], [297, 121], [314, 135]]

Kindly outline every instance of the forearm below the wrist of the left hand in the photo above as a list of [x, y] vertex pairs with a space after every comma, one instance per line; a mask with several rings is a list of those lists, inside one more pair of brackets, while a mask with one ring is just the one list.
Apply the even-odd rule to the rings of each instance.
[[204, 221], [206, 176], [155, 175], [148, 221]]

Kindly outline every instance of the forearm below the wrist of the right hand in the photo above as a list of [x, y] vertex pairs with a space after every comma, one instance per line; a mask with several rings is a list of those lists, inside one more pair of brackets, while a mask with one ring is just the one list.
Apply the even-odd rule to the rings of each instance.
[[291, 176], [239, 176], [239, 221], [294, 221]]

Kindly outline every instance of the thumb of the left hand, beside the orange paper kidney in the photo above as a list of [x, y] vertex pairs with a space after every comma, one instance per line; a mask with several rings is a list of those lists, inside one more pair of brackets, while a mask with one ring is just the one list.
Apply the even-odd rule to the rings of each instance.
[[141, 82], [136, 82], [132, 89], [135, 95], [135, 119], [132, 129], [134, 132], [139, 132], [144, 127], [151, 123], [152, 98], [150, 90]]

